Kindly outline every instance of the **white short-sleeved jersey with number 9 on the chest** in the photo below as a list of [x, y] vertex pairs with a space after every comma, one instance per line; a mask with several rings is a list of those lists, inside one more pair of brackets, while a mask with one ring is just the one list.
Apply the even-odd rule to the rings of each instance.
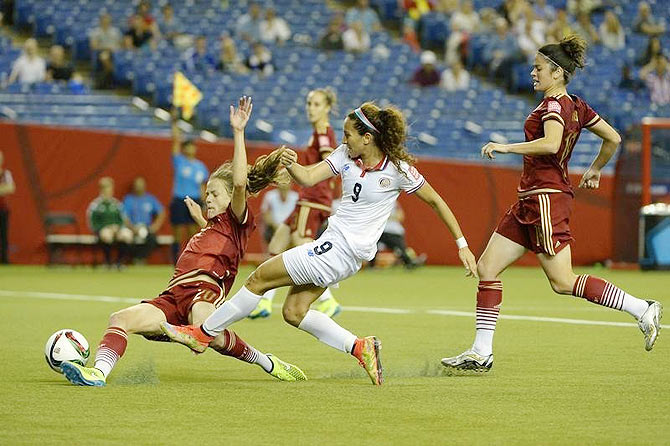
[[328, 219], [328, 228], [337, 230], [356, 256], [372, 260], [377, 241], [388, 220], [400, 191], [414, 193], [426, 180], [413, 166], [400, 163], [399, 171], [388, 157], [372, 169], [349, 158], [346, 144], [334, 150], [326, 163], [342, 177], [342, 199], [337, 211]]

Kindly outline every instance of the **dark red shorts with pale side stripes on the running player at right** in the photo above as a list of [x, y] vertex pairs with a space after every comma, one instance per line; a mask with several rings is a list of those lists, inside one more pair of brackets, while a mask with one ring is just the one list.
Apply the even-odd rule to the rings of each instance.
[[553, 256], [574, 240], [570, 235], [571, 212], [569, 194], [529, 195], [507, 211], [495, 232], [535, 254]]

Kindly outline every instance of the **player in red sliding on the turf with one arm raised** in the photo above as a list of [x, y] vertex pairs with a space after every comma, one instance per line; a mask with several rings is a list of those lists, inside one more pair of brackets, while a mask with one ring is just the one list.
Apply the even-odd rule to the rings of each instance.
[[[207, 218], [203, 217], [202, 210], [193, 200], [186, 198], [189, 211], [202, 230], [191, 237], [179, 256], [167, 289], [155, 299], [142, 301], [111, 315], [93, 367], [82, 367], [72, 362], [62, 364], [65, 377], [73, 384], [104, 386], [116, 362], [126, 351], [128, 333], [140, 334], [151, 340], [167, 340], [161, 334], [162, 322], [200, 324], [226, 298], [249, 236], [256, 226], [254, 215], [247, 207], [247, 198], [270, 184], [289, 181], [286, 175], [279, 173], [283, 149], [259, 157], [253, 166], [247, 166], [244, 128], [251, 109], [251, 98], [247, 97], [240, 99], [237, 109], [230, 107], [230, 125], [235, 140], [233, 161], [221, 165], [207, 182]], [[233, 331], [218, 331], [209, 346], [222, 355], [257, 364], [282, 381], [307, 379], [296, 366], [259, 352]]]

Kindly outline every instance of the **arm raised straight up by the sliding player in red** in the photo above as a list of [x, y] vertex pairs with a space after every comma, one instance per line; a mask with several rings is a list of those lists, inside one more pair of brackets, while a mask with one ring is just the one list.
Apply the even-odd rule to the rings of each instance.
[[242, 96], [237, 109], [230, 106], [230, 126], [233, 128], [233, 196], [230, 199], [233, 214], [243, 222], [247, 210], [247, 148], [244, 144], [244, 128], [249, 122], [253, 104], [251, 98]]

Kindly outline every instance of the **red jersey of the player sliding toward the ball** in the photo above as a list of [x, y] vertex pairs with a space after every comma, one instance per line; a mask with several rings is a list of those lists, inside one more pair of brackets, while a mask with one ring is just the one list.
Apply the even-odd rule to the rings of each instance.
[[210, 219], [205, 228], [191, 237], [177, 260], [172, 280], [187, 273], [207, 274], [227, 295], [255, 227], [254, 215], [248, 208], [245, 221], [240, 223], [228, 206], [226, 212]]

